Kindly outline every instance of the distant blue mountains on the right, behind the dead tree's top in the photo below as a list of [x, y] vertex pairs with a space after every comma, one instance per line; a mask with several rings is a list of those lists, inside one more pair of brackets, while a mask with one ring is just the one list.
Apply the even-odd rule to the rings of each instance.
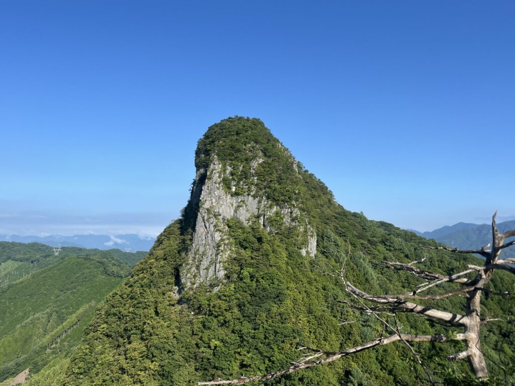
[[[499, 232], [506, 232], [515, 229], [515, 220], [505, 221], [497, 224]], [[449, 247], [459, 249], [479, 249], [483, 245], [492, 241], [491, 224], [471, 224], [458, 222], [454, 225], [446, 225], [431, 232], [417, 232], [411, 230], [419, 236], [435, 239]], [[503, 252], [504, 257], [515, 256], [515, 245]]]

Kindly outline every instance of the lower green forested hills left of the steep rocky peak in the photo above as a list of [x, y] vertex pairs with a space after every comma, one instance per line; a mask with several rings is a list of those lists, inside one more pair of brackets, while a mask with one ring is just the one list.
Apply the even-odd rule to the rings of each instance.
[[[104, 297], [145, 256], [0, 242], [0, 382], [69, 357]], [[6, 382], [7, 383], [7, 382]]]

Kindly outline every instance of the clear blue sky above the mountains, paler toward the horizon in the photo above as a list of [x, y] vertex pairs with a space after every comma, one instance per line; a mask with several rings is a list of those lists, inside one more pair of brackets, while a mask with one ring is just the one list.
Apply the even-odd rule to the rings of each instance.
[[346, 208], [515, 218], [515, 3], [3, 1], [0, 233], [157, 234], [261, 118]]

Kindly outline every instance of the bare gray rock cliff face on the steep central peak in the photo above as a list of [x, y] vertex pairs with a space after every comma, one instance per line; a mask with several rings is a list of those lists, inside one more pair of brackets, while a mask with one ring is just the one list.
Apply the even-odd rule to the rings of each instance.
[[[263, 162], [257, 157], [252, 163], [251, 173], [259, 163]], [[307, 245], [301, 250], [305, 256], [315, 256], [316, 233], [313, 227], [305, 221], [299, 223], [300, 213], [297, 207], [278, 207], [271, 205], [264, 198], [252, 195], [233, 196], [224, 189], [222, 178], [230, 175], [230, 168], [218, 161], [216, 155], [206, 171], [197, 170], [192, 201], [198, 205], [198, 215], [193, 233], [191, 248], [187, 251], [187, 259], [180, 270], [181, 283], [184, 288], [196, 286], [199, 283], [210, 284], [224, 278], [224, 262], [231, 253], [226, 221], [237, 218], [249, 224], [256, 217], [270, 232], [266, 224], [267, 217], [280, 211], [284, 224], [298, 226], [307, 235]], [[205, 181], [202, 183], [203, 176]]]

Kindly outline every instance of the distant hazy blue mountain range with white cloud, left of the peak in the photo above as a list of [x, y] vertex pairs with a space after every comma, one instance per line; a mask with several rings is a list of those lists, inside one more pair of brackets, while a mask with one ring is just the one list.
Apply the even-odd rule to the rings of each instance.
[[40, 242], [50, 245], [50, 247], [79, 247], [79, 248], [96, 248], [102, 250], [126, 249], [131, 252], [145, 251], [148, 252], [156, 241], [155, 237], [142, 237], [136, 234], [125, 234], [116, 236], [106, 235], [74, 235], [60, 236], [50, 235], [45, 237], [39, 236], [18, 236], [18, 235], [0, 235], [0, 241], [15, 242]]

